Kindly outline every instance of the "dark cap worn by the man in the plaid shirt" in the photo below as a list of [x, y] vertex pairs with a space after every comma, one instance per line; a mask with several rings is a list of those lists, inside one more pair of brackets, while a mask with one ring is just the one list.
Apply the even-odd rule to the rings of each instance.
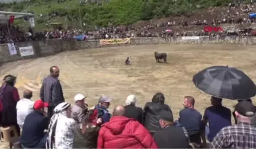
[[238, 102], [235, 106], [236, 112], [243, 116], [253, 116], [256, 112], [255, 106], [251, 102]]

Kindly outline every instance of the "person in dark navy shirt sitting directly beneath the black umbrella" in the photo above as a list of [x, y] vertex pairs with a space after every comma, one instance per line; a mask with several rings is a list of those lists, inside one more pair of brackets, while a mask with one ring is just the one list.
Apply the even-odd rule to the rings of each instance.
[[[203, 129], [204, 135], [201, 137], [204, 145], [206, 145], [206, 137], [208, 141], [212, 142], [220, 129], [231, 125], [231, 110], [222, 106], [222, 99], [212, 96], [211, 103], [212, 106], [206, 108], [203, 116], [205, 129]], [[206, 126], [207, 122], [209, 123], [209, 127]]]

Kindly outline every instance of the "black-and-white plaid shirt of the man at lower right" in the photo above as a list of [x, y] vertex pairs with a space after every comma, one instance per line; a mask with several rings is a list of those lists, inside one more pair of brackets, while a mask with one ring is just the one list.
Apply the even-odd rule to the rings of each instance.
[[256, 128], [248, 123], [224, 127], [213, 139], [210, 149], [252, 149], [256, 148]]

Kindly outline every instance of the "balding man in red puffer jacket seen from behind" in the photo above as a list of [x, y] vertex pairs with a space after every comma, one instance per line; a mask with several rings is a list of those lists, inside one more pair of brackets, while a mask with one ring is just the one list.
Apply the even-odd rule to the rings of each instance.
[[158, 149], [147, 129], [123, 114], [123, 106], [114, 108], [113, 117], [100, 129], [97, 149]]

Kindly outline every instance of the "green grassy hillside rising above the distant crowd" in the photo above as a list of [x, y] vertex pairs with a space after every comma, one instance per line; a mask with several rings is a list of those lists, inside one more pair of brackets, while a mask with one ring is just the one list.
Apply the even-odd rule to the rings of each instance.
[[[108, 22], [127, 25], [139, 20], [189, 14], [197, 9], [228, 5], [232, 0], [88, 0], [82, 4], [77, 0], [31, 0], [30, 2], [0, 4], [2, 11], [34, 12], [36, 29], [49, 28], [50, 22], [63, 22], [64, 27], [83, 28], [105, 26]], [[249, 2], [249, 0], [247, 1]], [[23, 20], [15, 24], [27, 25]]]

